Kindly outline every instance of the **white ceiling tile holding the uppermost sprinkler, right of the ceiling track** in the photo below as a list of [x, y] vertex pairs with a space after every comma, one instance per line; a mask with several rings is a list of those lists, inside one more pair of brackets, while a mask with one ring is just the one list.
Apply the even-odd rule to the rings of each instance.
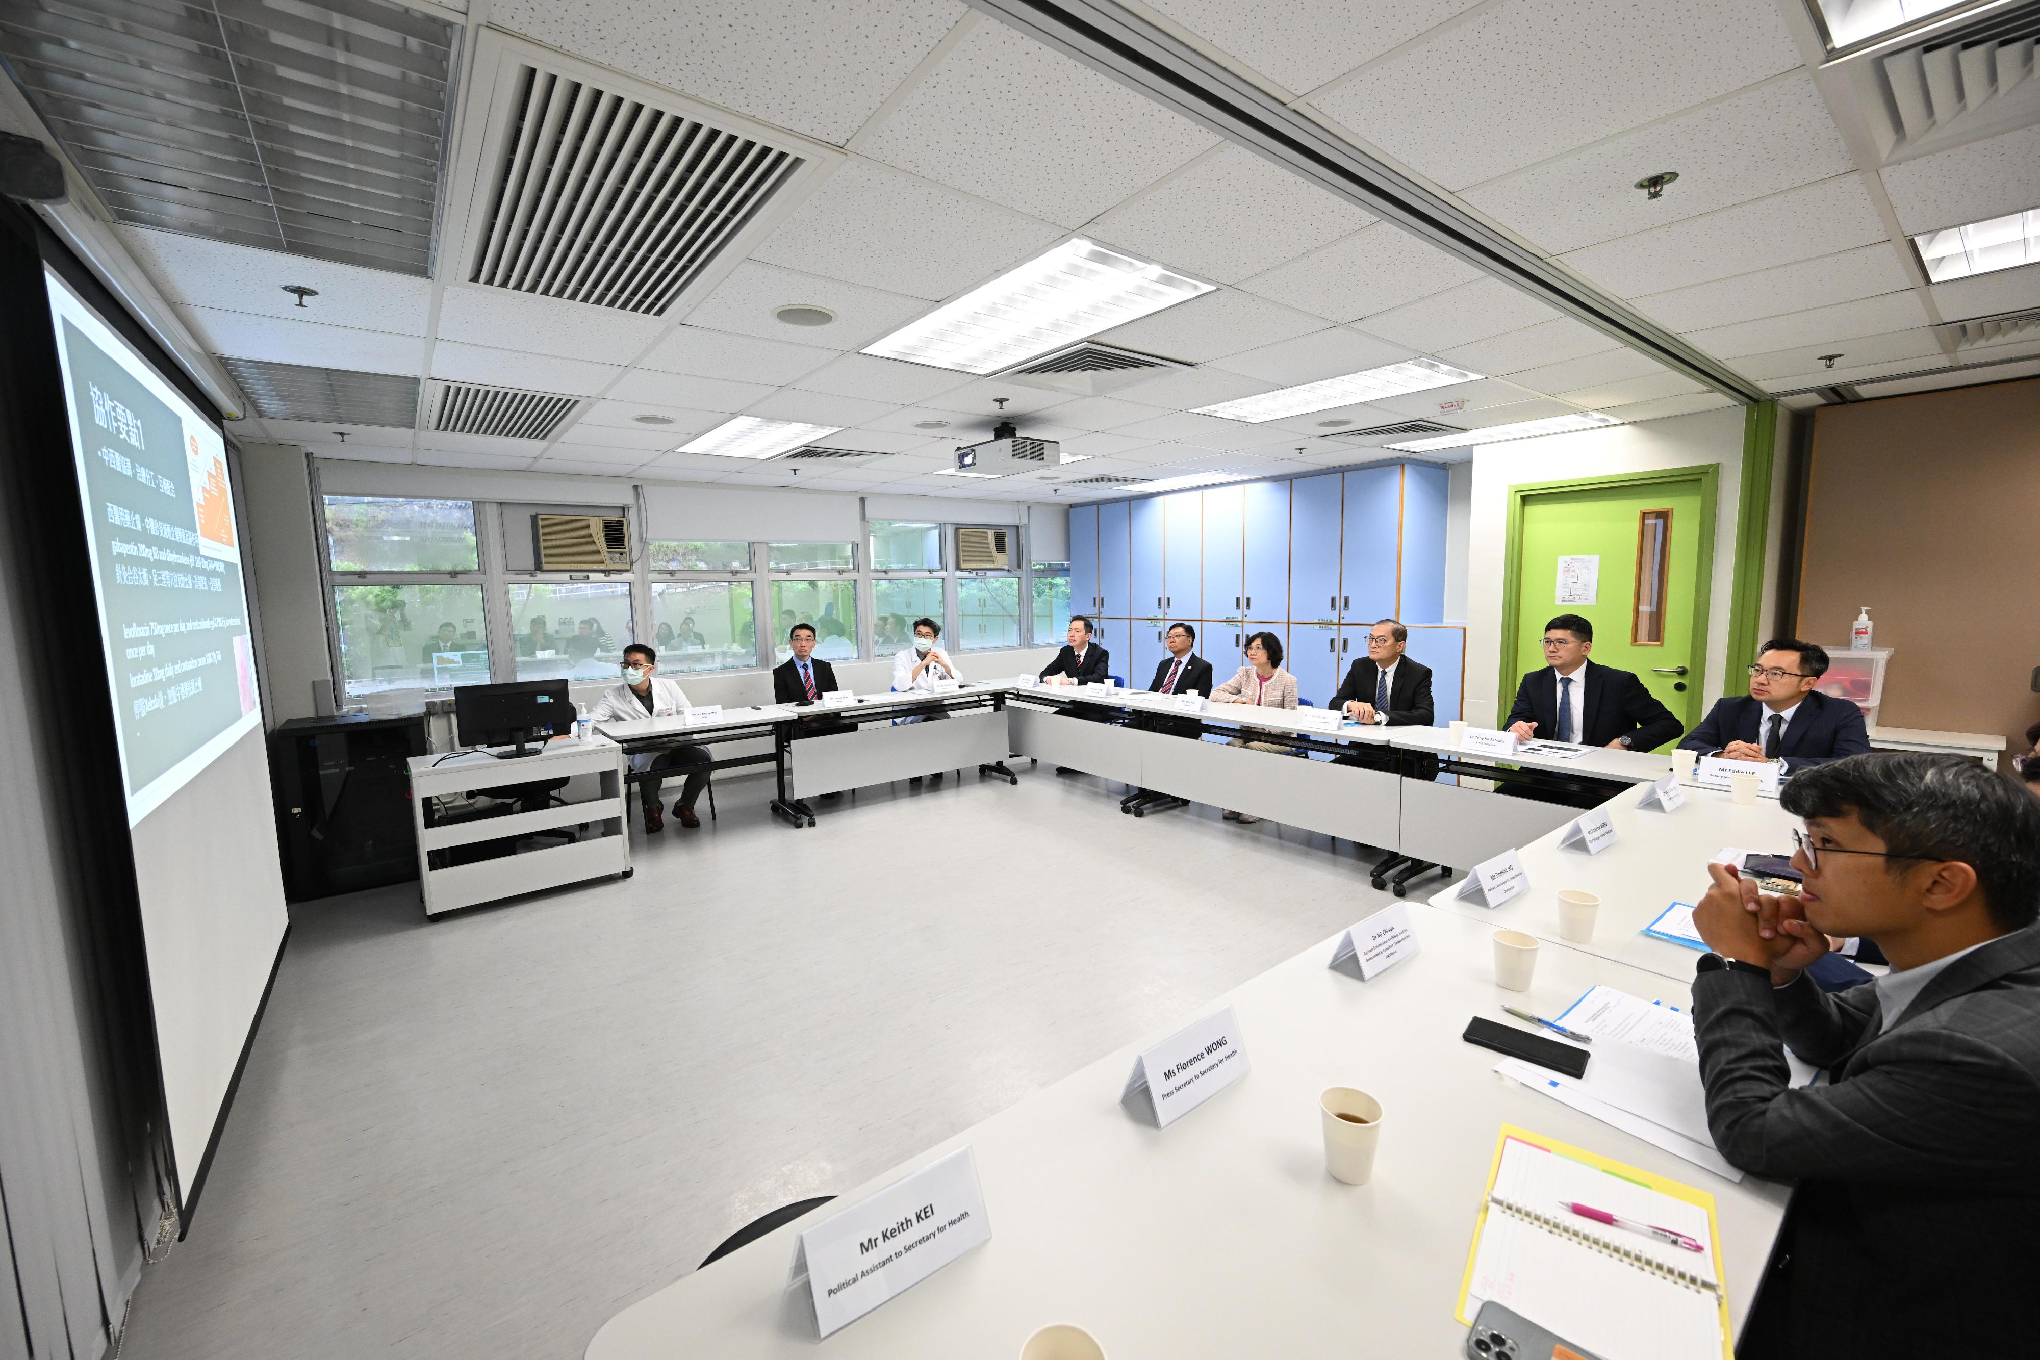
[[[1679, 181], [1663, 198], [1632, 188], [1665, 169], [1679, 171]], [[1463, 198], [1544, 251], [1563, 253], [1852, 169], [1814, 77], [1795, 71]]]

